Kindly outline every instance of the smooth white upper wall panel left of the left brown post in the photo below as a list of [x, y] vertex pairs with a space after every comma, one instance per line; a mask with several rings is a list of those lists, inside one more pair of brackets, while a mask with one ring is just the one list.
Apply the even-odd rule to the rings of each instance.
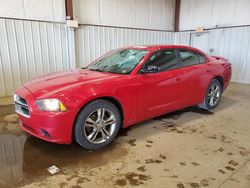
[[0, 17], [65, 22], [64, 0], [0, 0]]

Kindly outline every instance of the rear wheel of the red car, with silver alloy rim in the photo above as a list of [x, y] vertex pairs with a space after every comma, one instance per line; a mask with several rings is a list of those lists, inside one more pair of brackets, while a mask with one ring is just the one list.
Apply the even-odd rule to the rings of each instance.
[[198, 105], [199, 108], [205, 110], [214, 110], [220, 102], [221, 93], [221, 83], [219, 82], [219, 80], [213, 79], [208, 86], [208, 90], [204, 97], [204, 102]]

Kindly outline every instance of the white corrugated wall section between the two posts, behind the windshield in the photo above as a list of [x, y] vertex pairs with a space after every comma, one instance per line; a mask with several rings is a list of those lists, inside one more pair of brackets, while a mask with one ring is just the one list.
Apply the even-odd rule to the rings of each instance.
[[171, 44], [173, 32], [82, 26], [75, 32], [77, 67], [86, 66], [107, 51], [129, 45]]

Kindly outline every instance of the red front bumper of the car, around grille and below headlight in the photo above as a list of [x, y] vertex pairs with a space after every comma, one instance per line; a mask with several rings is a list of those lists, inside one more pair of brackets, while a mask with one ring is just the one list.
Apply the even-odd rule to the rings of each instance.
[[76, 111], [40, 111], [36, 106], [32, 93], [26, 88], [19, 88], [16, 94], [27, 101], [30, 112], [30, 117], [18, 114], [23, 130], [48, 142], [59, 144], [70, 144], [72, 142], [72, 128]]

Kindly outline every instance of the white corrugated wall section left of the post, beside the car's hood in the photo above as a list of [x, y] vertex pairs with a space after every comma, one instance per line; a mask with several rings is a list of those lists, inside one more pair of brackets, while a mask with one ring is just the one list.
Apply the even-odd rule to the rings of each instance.
[[0, 19], [0, 96], [48, 72], [69, 69], [65, 24]]

